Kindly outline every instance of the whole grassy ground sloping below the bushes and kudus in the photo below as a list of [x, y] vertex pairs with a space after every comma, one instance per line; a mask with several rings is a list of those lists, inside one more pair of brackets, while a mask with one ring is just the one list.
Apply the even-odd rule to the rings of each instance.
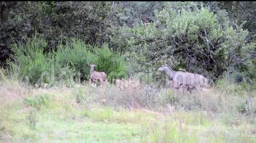
[[9, 100], [0, 105], [0, 140], [256, 142], [255, 97], [250, 108], [235, 104], [245, 112], [231, 108], [251, 93], [237, 97], [212, 89], [197, 96], [162, 89], [148, 94], [108, 86], [1, 86], [1, 97]]

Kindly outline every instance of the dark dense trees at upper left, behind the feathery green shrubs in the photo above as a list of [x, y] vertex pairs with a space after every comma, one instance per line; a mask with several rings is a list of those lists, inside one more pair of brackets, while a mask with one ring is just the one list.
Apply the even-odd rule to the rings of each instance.
[[109, 40], [111, 32], [109, 21], [112, 16], [108, 15], [111, 3], [0, 2], [1, 65], [4, 65], [8, 54], [11, 54], [12, 39], [25, 43], [22, 36], [31, 38], [36, 32], [48, 42], [44, 51], [55, 49], [56, 43], [64, 43], [64, 38], [71, 40], [77, 35], [90, 45], [101, 46]]

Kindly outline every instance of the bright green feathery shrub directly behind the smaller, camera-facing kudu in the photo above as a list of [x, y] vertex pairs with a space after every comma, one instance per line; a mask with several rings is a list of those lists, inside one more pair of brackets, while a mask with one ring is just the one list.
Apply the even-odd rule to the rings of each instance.
[[120, 53], [114, 53], [107, 45], [103, 45], [102, 48], [88, 46], [79, 39], [73, 39], [72, 43], [67, 42], [65, 46], [59, 45], [56, 61], [61, 67], [66, 64], [74, 67], [77, 72], [82, 73], [82, 79], [90, 79], [88, 63], [97, 63], [95, 71], [105, 72], [110, 82], [113, 78], [127, 75], [125, 60]]

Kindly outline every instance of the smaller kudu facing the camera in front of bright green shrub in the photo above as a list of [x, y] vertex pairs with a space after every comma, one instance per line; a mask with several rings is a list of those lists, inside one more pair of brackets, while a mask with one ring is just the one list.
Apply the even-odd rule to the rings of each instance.
[[107, 80], [107, 75], [105, 72], [95, 72], [94, 67], [97, 66], [97, 64], [90, 64], [90, 78], [92, 79], [93, 85], [95, 84], [96, 87], [96, 82], [97, 80], [101, 81], [101, 83], [106, 86], [106, 80]]

